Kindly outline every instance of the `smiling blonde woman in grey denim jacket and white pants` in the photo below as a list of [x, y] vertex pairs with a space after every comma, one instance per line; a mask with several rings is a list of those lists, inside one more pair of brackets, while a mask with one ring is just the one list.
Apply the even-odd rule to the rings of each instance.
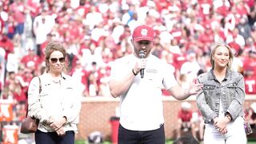
[[242, 74], [230, 70], [233, 58], [229, 46], [215, 46], [210, 54], [212, 69], [198, 76], [203, 84], [197, 105], [206, 123], [205, 144], [246, 144], [245, 83]]

